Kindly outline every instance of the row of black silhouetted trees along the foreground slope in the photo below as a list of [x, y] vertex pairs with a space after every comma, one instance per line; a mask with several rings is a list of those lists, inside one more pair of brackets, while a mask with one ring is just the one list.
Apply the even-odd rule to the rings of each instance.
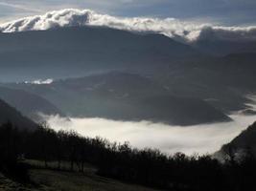
[[[131, 148], [103, 138], [84, 138], [75, 132], [56, 132], [39, 127], [20, 132], [11, 123], [0, 127], [0, 170], [24, 173], [18, 160], [37, 159], [48, 168], [50, 161], [69, 163], [69, 170], [84, 171], [84, 164], [98, 168], [98, 174], [128, 182], [169, 190], [248, 190], [256, 188], [256, 160], [219, 162], [210, 156], [166, 156], [158, 150]], [[7, 167], [9, 166], [9, 167]], [[12, 166], [10, 170], [10, 166]]]

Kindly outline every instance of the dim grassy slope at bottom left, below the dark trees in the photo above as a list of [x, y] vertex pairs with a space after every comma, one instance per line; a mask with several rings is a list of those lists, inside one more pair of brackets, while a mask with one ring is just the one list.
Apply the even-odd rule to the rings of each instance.
[[[118, 180], [106, 179], [96, 175], [96, 169], [86, 165], [85, 172], [68, 172], [44, 169], [44, 163], [36, 160], [26, 161], [35, 168], [30, 170], [33, 185], [21, 185], [0, 175], [0, 191], [153, 191], [140, 185], [128, 184]], [[49, 163], [56, 168], [56, 163]], [[68, 166], [68, 164], [64, 164]]]

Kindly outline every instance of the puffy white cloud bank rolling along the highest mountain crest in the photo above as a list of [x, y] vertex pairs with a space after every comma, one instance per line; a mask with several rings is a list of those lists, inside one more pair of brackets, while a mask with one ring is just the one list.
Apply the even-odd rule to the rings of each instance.
[[59, 27], [103, 26], [132, 32], [157, 32], [185, 41], [214, 38], [234, 41], [256, 40], [256, 26], [223, 27], [175, 18], [114, 17], [90, 10], [65, 9], [26, 17], [0, 25], [1, 32], [50, 30]]

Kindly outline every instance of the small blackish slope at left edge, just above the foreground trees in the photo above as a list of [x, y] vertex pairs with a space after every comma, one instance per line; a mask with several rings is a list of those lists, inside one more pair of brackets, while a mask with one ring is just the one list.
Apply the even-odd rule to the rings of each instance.
[[33, 130], [37, 127], [35, 122], [22, 116], [12, 106], [0, 99], [0, 124], [12, 122], [19, 129]]

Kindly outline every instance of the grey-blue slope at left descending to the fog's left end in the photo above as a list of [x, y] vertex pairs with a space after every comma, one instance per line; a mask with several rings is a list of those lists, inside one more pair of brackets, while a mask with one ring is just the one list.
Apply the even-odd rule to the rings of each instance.
[[40, 120], [39, 113], [64, 117], [62, 112], [50, 101], [23, 90], [0, 87], [0, 98], [35, 121]]

